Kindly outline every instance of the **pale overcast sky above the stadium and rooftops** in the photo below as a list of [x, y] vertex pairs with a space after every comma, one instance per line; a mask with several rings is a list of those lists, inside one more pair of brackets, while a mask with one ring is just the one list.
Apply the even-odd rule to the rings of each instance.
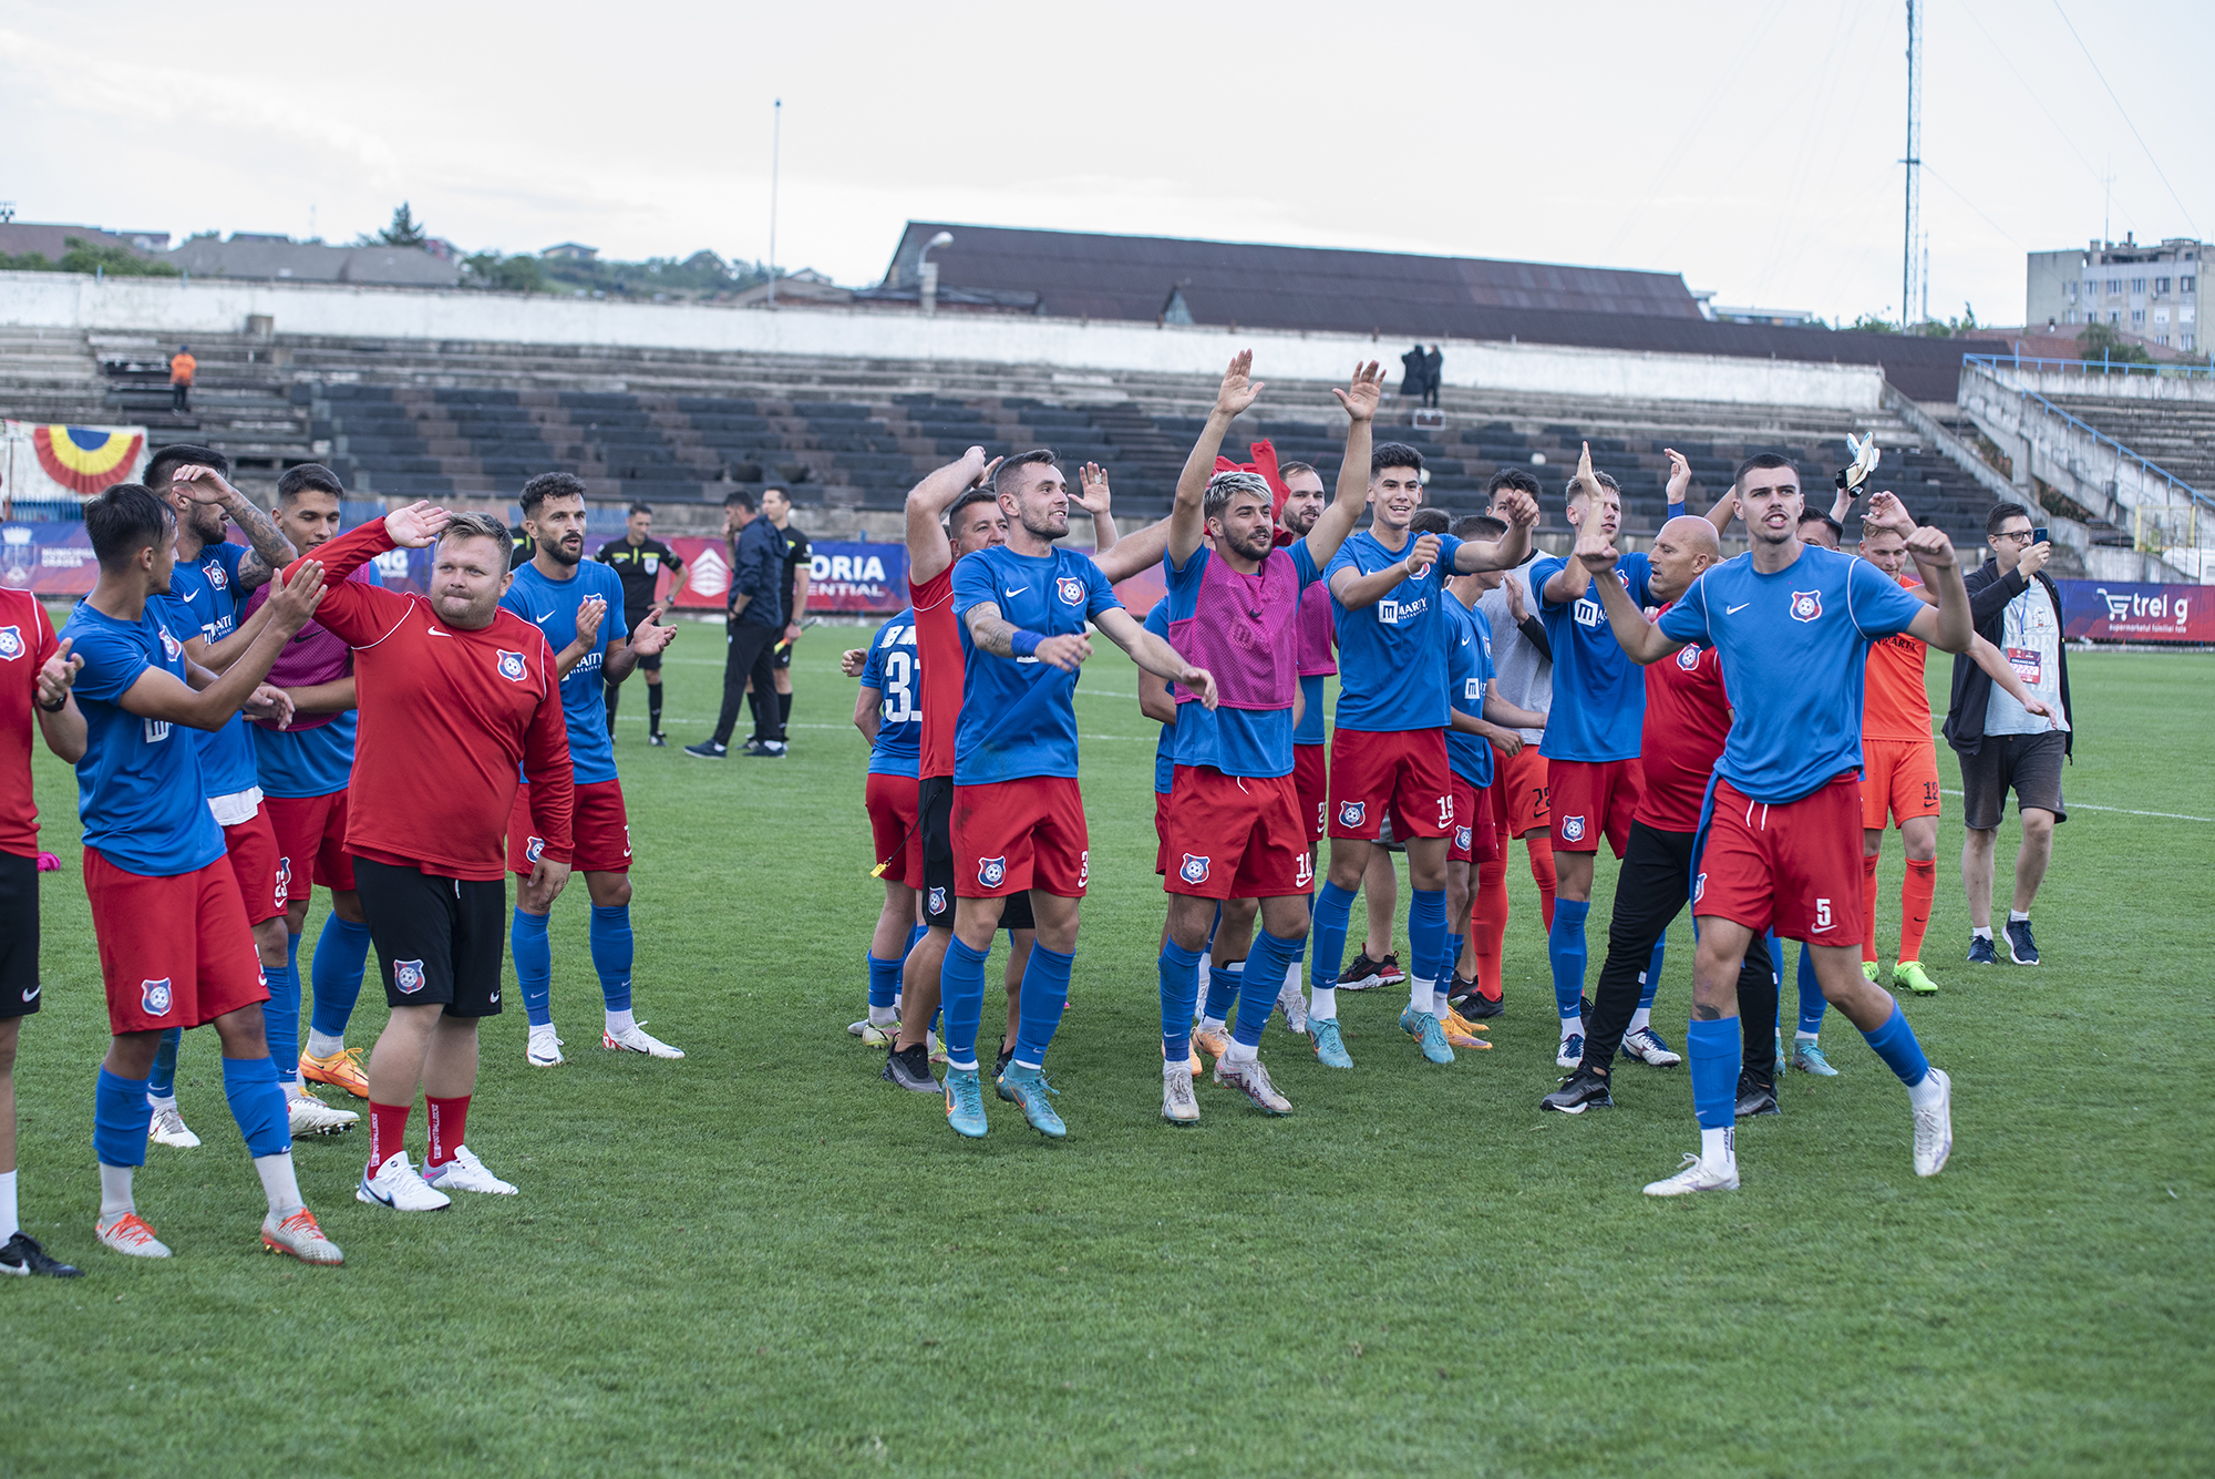
[[[1650, 268], [1889, 314], [1903, 49], [1900, 0], [0, 0], [0, 199], [330, 241], [408, 199], [470, 250], [758, 259], [782, 95], [777, 261], [842, 283], [879, 279], [913, 217]], [[1931, 0], [1925, 62], [1934, 314], [2020, 323], [2022, 255], [2102, 210], [2115, 239], [2215, 235], [2208, 0]]]

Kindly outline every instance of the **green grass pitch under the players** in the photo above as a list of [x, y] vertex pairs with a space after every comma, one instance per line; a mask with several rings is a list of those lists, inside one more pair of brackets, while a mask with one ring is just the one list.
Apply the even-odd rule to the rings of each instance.
[[[667, 669], [680, 744], [713, 713], [715, 635], [687, 627]], [[365, 1136], [303, 1142], [341, 1271], [259, 1253], [208, 1034], [179, 1089], [206, 1145], [140, 1178], [175, 1262], [93, 1244], [106, 1027], [40, 751], [69, 863], [18, 1069], [22, 1204], [89, 1273], [0, 1289], [0, 1472], [2206, 1472], [2208, 660], [2073, 658], [2069, 795], [2126, 810], [2060, 830], [2044, 968], [1958, 963], [1947, 799], [1943, 994], [1909, 1003], [1956, 1080], [1943, 1178], [1914, 1178], [1898, 1085], [1832, 1016], [1843, 1074], [1792, 1076], [1745, 1129], [1743, 1191], [1652, 1202], [1639, 1185], [1697, 1142], [1686, 1074], [1632, 1065], [1610, 1114], [1537, 1111], [1555, 1023], [1519, 852], [1495, 1052], [1429, 1067], [1404, 996], [1349, 996], [1358, 1072], [1265, 1041], [1296, 1116], [1203, 1087], [1198, 1127], [1158, 1120], [1152, 726], [1112, 651], [1079, 697], [1092, 894], [1050, 1063], [1070, 1138], [988, 1098], [990, 1138], [957, 1142], [844, 1032], [882, 892], [837, 640], [804, 644], [784, 762], [649, 751], [627, 693], [638, 1012], [691, 1056], [598, 1049], [571, 890], [569, 1063], [525, 1069], [523, 1014], [498, 1018], [470, 1123], [523, 1196], [372, 1211]], [[1894, 839], [1887, 899], [1898, 872]], [[1889, 959], [1896, 906], [1881, 921]], [[1681, 1038], [1688, 925], [1670, 945], [1657, 1021]], [[372, 987], [352, 1041], [381, 1018]]]

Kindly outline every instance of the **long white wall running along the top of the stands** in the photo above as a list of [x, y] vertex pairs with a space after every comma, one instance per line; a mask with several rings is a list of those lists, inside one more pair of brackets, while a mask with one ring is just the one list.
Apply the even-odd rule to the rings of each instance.
[[[496, 292], [416, 292], [0, 272], [0, 323], [75, 332], [237, 334], [268, 317], [279, 334], [560, 343], [609, 348], [815, 354], [833, 359], [979, 361], [1057, 370], [1220, 372], [1227, 350], [1251, 345], [1276, 379], [1338, 381], [1358, 359], [1398, 376], [1400, 339], [1282, 330], [1152, 328], [1076, 319], [939, 314], [851, 308], [775, 312], [698, 303], [609, 303]], [[1644, 354], [1537, 343], [1442, 341], [1444, 379], [1464, 390], [1708, 401], [1876, 412], [1883, 372], [1714, 354]], [[1081, 394], [1079, 385], [1072, 392]]]

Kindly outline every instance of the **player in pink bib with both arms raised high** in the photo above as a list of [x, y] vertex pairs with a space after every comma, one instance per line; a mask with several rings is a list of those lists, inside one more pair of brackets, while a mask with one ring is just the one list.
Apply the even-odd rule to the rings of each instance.
[[1331, 390], [1349, 416], [1338, 498], [1280, 549], [1267, 478], [1214, 472], [1232, 421], [1263, 392], [1251, 368], [1251, 350], [1232, 356], [1185, 458], [1163, 567], [1170, 644], [1192, 653], [1218, 684], [1214, 704], [1192, 689], [1176, 693], [1176, 775], [1163, 839], [1170, 932], [1161, 950], [1161, 1114], [1172, 1125], [1201, 1118], [1189, 1067], [1198, 961], [1216, 908], [1234, 899], [1260, 901], [1260, 930], [1240, 972], [1238, 1023], [1216, 1058], [1216, 1083], [1269, 1114], [1291, 1111], [1256, 1049], [1285, 976], [1307, 948], [1316, 881], [1291, 777], [1300, 596], [1322, 578], [1360, 518], [1369, 427], [1384, 390], [1384, 372], [1373, 363], [1356, 365], [1347, 390]]

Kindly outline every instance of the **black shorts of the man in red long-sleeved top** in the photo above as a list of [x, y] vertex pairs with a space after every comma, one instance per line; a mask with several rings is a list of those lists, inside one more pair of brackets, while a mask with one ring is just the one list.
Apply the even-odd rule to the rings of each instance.
[[385, 1005], [439, 1005], [447, 1016], [501, 1014], [505, 879], [441, 879], [357, 857], [354, 888], [370, 917]]

